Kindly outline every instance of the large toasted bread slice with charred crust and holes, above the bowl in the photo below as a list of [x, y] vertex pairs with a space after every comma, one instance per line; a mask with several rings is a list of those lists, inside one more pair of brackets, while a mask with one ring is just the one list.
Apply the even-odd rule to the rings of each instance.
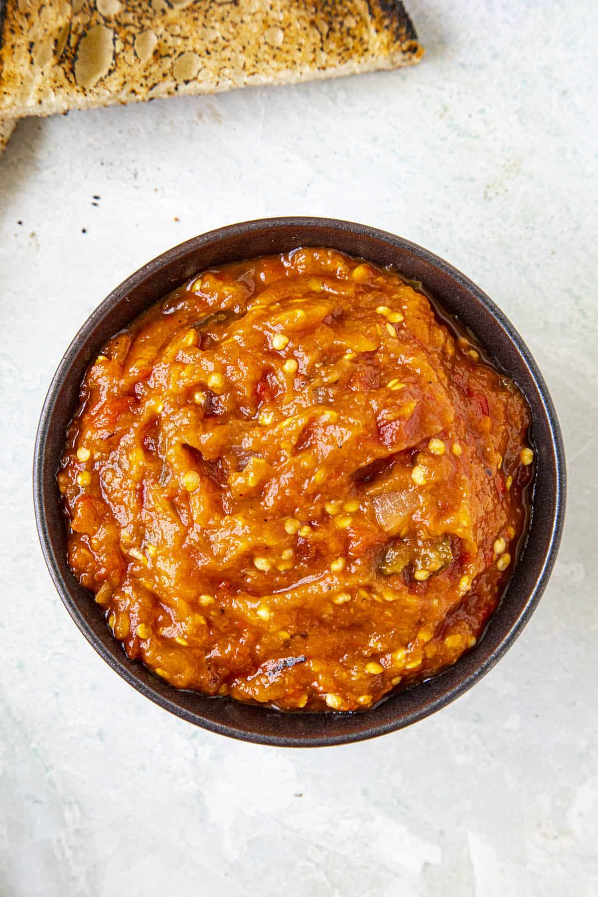
[[422, 53], [399, 0], [4, 0], [0, 117], [390, 69]]

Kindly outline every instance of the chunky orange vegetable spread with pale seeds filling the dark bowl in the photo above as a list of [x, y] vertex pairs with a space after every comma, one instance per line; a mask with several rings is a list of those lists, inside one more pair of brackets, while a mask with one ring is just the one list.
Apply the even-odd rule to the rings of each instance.
[[480, 638], [526, 524], [528, 424], [392, 270], [298, 248], [206, 271], [83, 380], [69, 563], [178, 688], [364, 710]]

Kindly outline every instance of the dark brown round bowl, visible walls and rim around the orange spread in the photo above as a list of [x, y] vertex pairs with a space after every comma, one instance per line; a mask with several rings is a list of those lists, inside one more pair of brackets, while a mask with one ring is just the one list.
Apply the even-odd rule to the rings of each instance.
[[[378, 265], [392, 263], [408, 278], [420, 281], [516, 380], [533, 417], [537, 465], [529, 533], [484, 637], [445, 673], [359, 713], [285, 714], [230, 698], [177, 691], [128, 660], [91, 595], [68, 568], [65, 519], [56, 487], [58, 459], [79, 385], [109, 336], [205, 268], [298, 246], [333, 247]], [[49, 388], [35, 446], [33, 491], [39, 539], [60, 597], [87, 640], [126, 682], [160, 707], [212, 732], [264, 745], [314, 747], [342, 745], [409, 726], [454, 701], [488, 673], [524, 628], [550, 577], [565, 515], [566, 473], [559, 422], [542, 374], [515, 327], [475, 284], [427, 249], [391, 233], [324, 218], [273, 218], [233, 224], [169, 249], [117, 286], [93, 312], [68, 347]]]

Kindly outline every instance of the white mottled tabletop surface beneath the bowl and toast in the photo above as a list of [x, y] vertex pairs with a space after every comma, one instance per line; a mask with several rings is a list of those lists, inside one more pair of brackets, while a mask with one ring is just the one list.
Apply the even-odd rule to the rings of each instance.
[[[31, 119], [0, 161], [3, 897], [598, 892], [595, 4], [409, 5], [418, 68]], [[91, 309], [182, 239], [285, 213], [401, 233], [489, 292], [548, 380], [570, 485], [550, 587], [490, 675], [305, 752], [212, 736], [112, 673], [30, 503], [42, 399]]]

